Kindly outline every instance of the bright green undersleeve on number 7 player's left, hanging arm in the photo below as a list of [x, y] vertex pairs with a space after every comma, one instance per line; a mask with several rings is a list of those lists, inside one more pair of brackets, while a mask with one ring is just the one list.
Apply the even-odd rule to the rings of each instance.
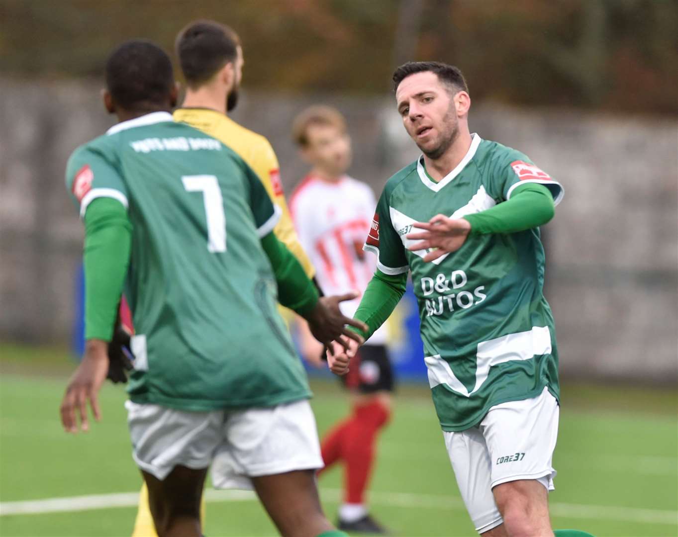
[[85, 212], [85, 339], [111, 341], [129, 265], [132, 224], [124, 205], [95, 199]]

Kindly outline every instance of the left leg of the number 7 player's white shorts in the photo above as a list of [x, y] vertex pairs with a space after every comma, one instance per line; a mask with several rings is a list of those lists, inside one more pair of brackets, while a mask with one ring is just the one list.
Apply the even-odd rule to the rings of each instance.
[[186, 412], [132, 401], [125, 407], [132, 456], [143, 472], [163, 481], [175, 466], [210, 466], [222, 441], [223, 412]]

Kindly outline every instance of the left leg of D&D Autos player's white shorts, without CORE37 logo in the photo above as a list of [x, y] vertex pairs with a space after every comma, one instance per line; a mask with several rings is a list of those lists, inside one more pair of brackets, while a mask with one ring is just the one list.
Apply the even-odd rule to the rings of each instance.
[[492, 494], [492, 462], [483, 435], [472, 428], [445, 432], [443, 436], [459, 492], [476, 531], [485, 534], [498, 528], [502, 516]]

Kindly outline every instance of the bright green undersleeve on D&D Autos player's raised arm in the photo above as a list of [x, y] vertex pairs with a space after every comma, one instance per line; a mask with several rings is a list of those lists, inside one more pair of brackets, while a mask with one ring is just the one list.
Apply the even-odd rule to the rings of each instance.
[[553, 195], [546, 186], [520, 184], [507, 201], [475, 214], [464, 216], [471, 224], [471, 233], [516, 233], [549, 222], [555, 214]]

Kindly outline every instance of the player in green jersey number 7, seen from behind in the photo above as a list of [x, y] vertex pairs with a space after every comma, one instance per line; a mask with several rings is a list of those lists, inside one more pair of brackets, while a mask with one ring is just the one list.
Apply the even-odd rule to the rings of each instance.
[[[88, 429], [108, 370], [123, 286], [134, 312], [129, 430], [159, 536], [199, 536], [203, 481], [254, 488], [285, 535], [344, 535], [321, 510], [311, 392], [277, 301], [319, 340], [348, 336], [272, 233], [279, 212], [245, 162], [172, 121], [172, 64], [128, 41], [106, 64], [120, 121], [71, 155], [66, 184], [85, 223], [85, 356], [62, 401], [64, 429]], [[365, 327], [366, 328], [366, 327]], [[361, 340], [359, 336], [355, 338]]]

